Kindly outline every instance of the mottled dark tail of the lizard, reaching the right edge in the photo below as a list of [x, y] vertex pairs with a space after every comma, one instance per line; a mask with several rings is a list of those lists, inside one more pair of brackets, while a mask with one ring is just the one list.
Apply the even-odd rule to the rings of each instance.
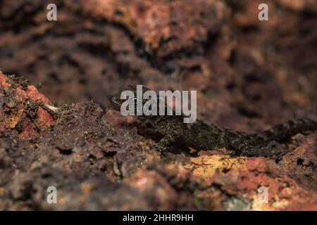
[[317, 130], [317, 122], [306, 118], [294, 119], [282, 124], [275, 125], [267, 131], [256, 134], [259, 141], [269, 143], [271, 141], [284, 141], [302, 131]]

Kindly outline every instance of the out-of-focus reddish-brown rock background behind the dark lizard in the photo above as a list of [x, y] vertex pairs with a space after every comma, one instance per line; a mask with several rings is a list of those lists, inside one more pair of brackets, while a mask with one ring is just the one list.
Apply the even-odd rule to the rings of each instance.
[[[48, 4], [57, 21], [48, 21]], [[268, 21], [258, 6], [268, 4]], [[317, 119], [315, 0], [2, 0], [0, 68], [57, 103], [103, 108], [127, 84], [197, 90], [198, 117], [242, 131]]]

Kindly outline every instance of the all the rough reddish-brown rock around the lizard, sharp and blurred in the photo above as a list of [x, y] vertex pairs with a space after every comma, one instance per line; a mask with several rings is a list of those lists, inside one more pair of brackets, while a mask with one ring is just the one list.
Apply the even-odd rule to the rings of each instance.
[[0, 1], [0, 210], [317, 210], [316, 132], [259, 158], [181, 146], [162, 156], [155, 131], [108, 108], [144, 84], [197, 90], [199, 119], [221, 127], [317, 120], [316, 3]]

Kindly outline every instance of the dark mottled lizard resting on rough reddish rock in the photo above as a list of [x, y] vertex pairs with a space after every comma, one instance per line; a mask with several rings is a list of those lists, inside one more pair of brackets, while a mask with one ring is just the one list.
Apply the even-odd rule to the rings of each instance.
[[[136, 86], [127, 86], [125, 90], [133, 91], [137, 96]], [[149, 89], [143, 87], [143, 92], [147, 90]], [[124, 101], [120, 99], [120, 94], [111, 98], [111, 104], [117, 110], [120, 110]], [[143, 99], [143, 104], [146, 101]], [[183, 121], [184, 115], [142, 115], [138, 117], [149, 121], [154, 129], [163, 135], [163, 139], [156, 143], [160, 150], [170, 145], [170, 143], [179, 143], [182, 146], [196, 150], [225, 148], [234, 150], [237, 155], [255, 155], [254, 153], [257, 150], [267, 146], [271, 141], [282, 142], [302, 131], [317, 129], [317, 122], [306, 118], [290, 120], [267, 131], [248, 134], [242, 131], [220, 128], [212, 124], [208, 125], [200, 120], [196, 120], [192, 124], [186, 124]]]

